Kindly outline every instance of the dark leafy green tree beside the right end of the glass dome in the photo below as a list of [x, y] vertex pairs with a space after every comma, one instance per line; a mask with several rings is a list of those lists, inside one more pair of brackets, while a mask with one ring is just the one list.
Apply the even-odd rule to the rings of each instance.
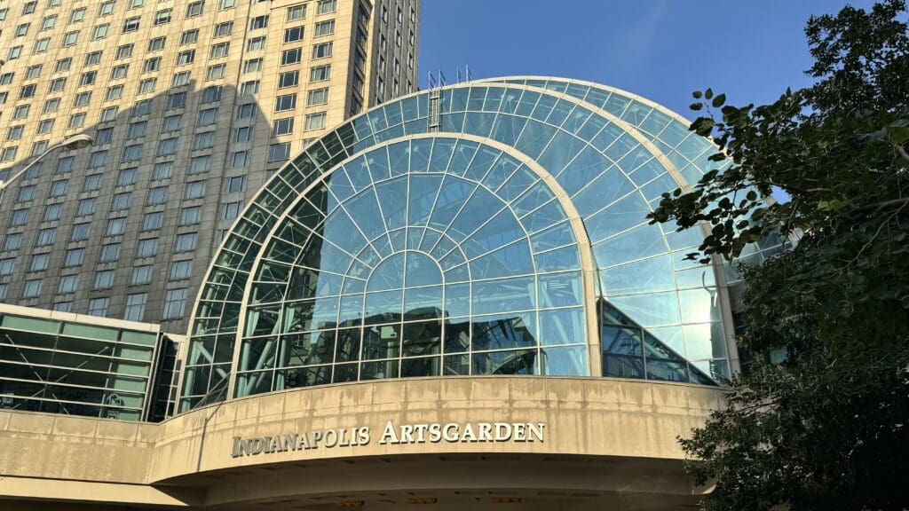
[[[712, 227], [699, 251], [735, 261], [773, 233], [796, 240], [743, 269], [740, 344], [754, 355], [681, 439], [715, 510], [909, 508], [909, 33], [904, 0], [813, 16], [813, 86], [771, 105], [695, 92], [724, 172], [664, 194], [652, 223]], [[790, 199], [765, 200], [774, 190]], [[770, 364], [762, 355], [785, 353]]]

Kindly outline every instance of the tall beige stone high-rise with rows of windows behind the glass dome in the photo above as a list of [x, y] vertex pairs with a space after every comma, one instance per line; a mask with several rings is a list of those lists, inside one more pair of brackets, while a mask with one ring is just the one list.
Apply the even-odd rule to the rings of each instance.
[[[419, 0], [0, 2], [0, 301], [183, 333], [290, 155], [415, 91]], [[189, 305], [187, 305], [189, 304]]]

